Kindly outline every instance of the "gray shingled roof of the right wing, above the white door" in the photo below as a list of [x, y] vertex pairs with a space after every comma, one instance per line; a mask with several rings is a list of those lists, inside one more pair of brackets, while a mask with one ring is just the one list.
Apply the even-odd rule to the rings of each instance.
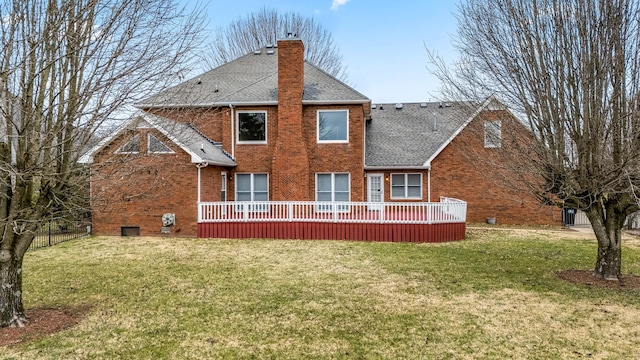
[[376, 104], [367, 124], [365, 166], [427, 165], [479, 107], [469, 103], [410, 103], [397, 109], [396, 104]]

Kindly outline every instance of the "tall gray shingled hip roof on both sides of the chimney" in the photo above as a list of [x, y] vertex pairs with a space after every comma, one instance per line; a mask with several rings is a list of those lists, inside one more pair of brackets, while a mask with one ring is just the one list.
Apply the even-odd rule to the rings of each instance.
[[[306, 61], [304, 82], [303, 102], [369, 101], [366, 96]], [[276, 104], [277, 101], [278, 49], [272, 47], [242, 56], [136, 105], [140, 108], [227, 106]]]

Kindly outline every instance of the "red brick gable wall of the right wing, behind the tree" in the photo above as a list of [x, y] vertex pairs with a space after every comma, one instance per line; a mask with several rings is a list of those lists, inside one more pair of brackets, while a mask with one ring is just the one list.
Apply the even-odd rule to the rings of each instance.
[[[484, 121], [498, 119], [502, 120], [503, 147], [485, 148]], [[509, 151], [505, 138], [509, 131], [523, 131], [513, 121], [504, 111], [484, 111], [477, 116], [431, 163], [432, 200], [448, 196], [466, 201], [470, 223], [496, 217], [502, 224], [561, 225], [561, 210], [541, 205], [519, 185], [519, 175], [509, 172], [505, 162], [518, 159], [501, 154]]]

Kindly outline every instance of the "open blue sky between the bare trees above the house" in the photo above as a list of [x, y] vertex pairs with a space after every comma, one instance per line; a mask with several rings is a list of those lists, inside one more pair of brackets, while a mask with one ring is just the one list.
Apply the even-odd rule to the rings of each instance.
[[211, 0], [209, 28], [262, 7], [313, 17], [331, 31], [347, 82], [374, 103], [438, 100], [425, 45], [447, 62], [458, 57], [451, 46], [457, 7], [450, 0]]

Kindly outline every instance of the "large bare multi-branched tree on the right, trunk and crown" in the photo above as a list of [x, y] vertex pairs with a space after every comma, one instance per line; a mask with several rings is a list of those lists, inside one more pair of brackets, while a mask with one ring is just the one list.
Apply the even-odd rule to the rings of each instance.
[[467, 0], [458, 21], [455, 69], [430, 53], [445, 93], [496, 94], [522, 114], [537, 194], [586, 212], [595, 274], [618, 279], [640, 186], [639, 1]]

